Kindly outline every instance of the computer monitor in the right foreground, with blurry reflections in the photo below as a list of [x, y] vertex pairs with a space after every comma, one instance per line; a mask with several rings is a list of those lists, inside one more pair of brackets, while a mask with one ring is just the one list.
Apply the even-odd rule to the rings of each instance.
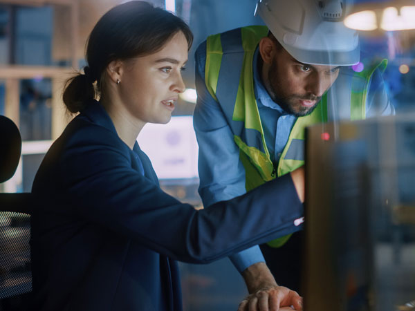
[[415, 299], [415, 115], [306, 130], [305, 311]]

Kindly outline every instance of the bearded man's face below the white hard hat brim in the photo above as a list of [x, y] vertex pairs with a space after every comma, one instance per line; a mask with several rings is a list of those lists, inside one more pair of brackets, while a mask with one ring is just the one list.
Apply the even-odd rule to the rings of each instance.
[[338, 74], [339, 67], [303, 64], [279, 47], [268, 72], [268, 92], [284, 111], [302, 117], [313, 112]]

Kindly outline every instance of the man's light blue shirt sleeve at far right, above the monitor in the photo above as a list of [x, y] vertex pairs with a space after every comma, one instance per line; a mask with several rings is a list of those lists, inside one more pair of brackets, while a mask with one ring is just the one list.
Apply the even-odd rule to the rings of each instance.
[[385, 80], [378, 68], [369, 82], [366, 105], [366, 117], [395, 114], [394, 105], [389, 101]]

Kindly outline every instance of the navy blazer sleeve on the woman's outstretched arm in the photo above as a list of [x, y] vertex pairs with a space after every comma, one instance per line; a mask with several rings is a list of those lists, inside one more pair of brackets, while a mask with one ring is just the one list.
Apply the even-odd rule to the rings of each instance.
[[198, 211], [132, 169], [127, 145], [101, 126], [64, 145], [55, 171], [67, 212], [170, 258], [208, 263], [301, 228], [295, 220], [303, 206], [289, 174]]

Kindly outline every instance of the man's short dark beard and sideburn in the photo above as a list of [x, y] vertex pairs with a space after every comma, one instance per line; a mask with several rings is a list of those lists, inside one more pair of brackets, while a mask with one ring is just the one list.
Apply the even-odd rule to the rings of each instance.
[[[315, 96], [313, 94], [305, 94], [305, 95], [284, 95], [284, 91], [282, 90], [281, 84], [275, 79], [273, 73], [277, 72], [277, 64], [275, 59], [273, 59], [273, 63], [271, 64], [270, 71], [268, 72], [268, 81], [270, 82], [270, 88], [273, 94], [271, 98], [274, 102], [279, 104], [279, 106], [289, 113], [290, 115], [295, 115], [295, 117], [304, 117], [304, 115], [311, 114], [315, 107], [317, 107], [318, 102], [320, 102], [321, 97]], [[299, 103], [299, 100], [306, 100], [306, 101], [315, 101], [315, 104], [311, 107], [302, 106]]]

